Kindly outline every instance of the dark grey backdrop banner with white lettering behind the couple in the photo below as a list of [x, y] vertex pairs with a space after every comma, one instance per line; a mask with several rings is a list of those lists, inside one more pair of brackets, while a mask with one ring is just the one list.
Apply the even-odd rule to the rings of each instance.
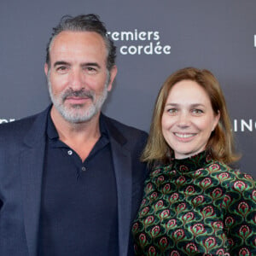
[[62, 15], [95, 13], [118, 47], [118, 75], [103, 112], [149, 130], [166, 77], [207, 68], [228, 104], [241, 171], [256, 177], [256, 1], [44, 0], [0, 3], [0, 124], [49, 104], [45, 48]]

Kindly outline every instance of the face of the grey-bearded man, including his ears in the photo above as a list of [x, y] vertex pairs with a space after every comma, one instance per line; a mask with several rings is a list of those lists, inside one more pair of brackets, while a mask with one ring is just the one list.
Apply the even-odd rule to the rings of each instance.
[[49, 56], [50, 67], [45, 64], [44, 71], [53, 111], [71, 123], [97, 117], [117, 73], [116, 67], [108, 72], [102, 37], [96, 32], [61, 32]]

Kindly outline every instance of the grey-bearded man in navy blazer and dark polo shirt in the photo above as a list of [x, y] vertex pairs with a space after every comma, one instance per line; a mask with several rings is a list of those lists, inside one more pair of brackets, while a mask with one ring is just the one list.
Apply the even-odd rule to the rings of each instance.
[[53, 29], [44, 72], [53, 105], [0, 125], [0, 255], [127, 255], [147, 138], [101, 113], [117, 73], [96, 15]]

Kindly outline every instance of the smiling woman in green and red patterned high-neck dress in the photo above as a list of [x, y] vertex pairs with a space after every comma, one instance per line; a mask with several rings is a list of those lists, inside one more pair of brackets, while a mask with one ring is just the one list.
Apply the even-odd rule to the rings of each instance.
[[212, 73], [166, 80], [142, 160], [153, 168], [132, 225], [137, 255], [256, 255], [255, 182], [228, 166], [238, 156]]

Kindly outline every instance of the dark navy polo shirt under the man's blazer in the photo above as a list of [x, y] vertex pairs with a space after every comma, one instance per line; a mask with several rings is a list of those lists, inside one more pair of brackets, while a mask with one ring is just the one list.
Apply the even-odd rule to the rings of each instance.
[[50, 114], [44, 161], [41, 256], [118, 255], [117, 191], [108, 130], [82, 162], [59, 140]]

